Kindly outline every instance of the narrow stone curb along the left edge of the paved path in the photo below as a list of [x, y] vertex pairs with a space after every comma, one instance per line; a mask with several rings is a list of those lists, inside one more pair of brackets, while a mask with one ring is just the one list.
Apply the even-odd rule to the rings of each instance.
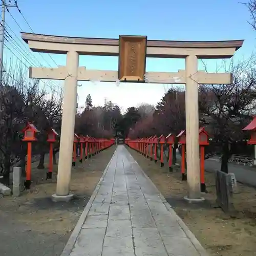
[[82, 228], [82, 225], [83, 225], [84, 221], [86, 220], [86, 217], [87, 217], [87, 215], [88, 215], [88, 212], [89, 212], [89, 210], [90, 210], [90, 208], [91, 208], [91, 206], [92, 206], [92, 203], [93, 203], [93, 201], [94, 201], [96, 195], [98, 194], [98, 191], [99, 191], [101, 182], [102, 182], [102, 180], [103, 180], [104, 177], [105, 177], [105, 174], [106, 174], [106, 172], [107, 172], [107, 170], [108, 170], [108, 168], [109, 168], [109, 166], [110, 166], [110, 163], [111, 163], [113, 157], [115, 156], [115, 153], [116, 153], [116, 150], [115, 150], [115, 152], [114, 152], [112, 158], [110, 159], [108, 165], [106, 165], [106, 168], [104, 169], [104, 172], [103, 172], [103, 174], [102, 174], [102, 176], [101, 176], [101, 178], [100, 178], [100, 180], [99, 180], [97, 186], [95, 187], [95, 189], [94, 189], [94, 191], [93, 191], [93, 194], [92, 194], [92, 196], [91, 196], [89, 202], [87, 203], [86, 207], [84, 208], [84, 210], [83, 210], [83, 212], [82, 212], [82, 214], [81, 214], [81, 216], [80, 216], [78, 222], [76, 223], [76, 226], [75, 226], [75, 228], [74, 228], [72, 234], [70, 235], [70, 238], [69, 238], [69, 240], [68, 240], [66, 246], [64, 247], [62, 253], [60, 254], [60, 256], [69, 256], [70, 253], [72, 252], [72, 249], [73, 249], [74, 244], [75, 244], [75, 242], [76, 242], [76, 240], [77, 240], [77, 237], [79, 236], [79, 233], [80, 233], [80, 230], [81, 230], [81, 228]]

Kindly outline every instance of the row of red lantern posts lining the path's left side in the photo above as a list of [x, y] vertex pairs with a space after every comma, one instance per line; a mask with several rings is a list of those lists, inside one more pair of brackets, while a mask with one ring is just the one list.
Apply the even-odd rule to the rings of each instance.
[[[26, 181], [25, 188], [29, 189], [31, 185], [31, 156], [32, 156], [32, 142], [37, 141], [36, 134], [40, 133], [32, 123], [28, 123], [27, 126], [22, 130], [24, 133], [23, 141], [28, 143], [28, 152], [27, 152], [27, 165], [26, 165]], [[47, 142], [50, 143], [49, 150], [49, 167], [46, 179], [52, 179], [53, 172], [53, 144], [57, 142], [57, 137], [59, 134], [54, 130], [50, 129], [47, 133]], [[73, 162], [72, 166], [76, 165], [76, 152], [77, 152], [77, 144], [80, 143], [79, 151], [80, 151], [80, 159], [79, 161], [91, 158], [92, 156], [98, 154], [99, 152], [105, 150], [106, 148], [114, 145], [115, 139], [97, 139], [90, 136], [78, 136], [74, 134], [73, 140]]]

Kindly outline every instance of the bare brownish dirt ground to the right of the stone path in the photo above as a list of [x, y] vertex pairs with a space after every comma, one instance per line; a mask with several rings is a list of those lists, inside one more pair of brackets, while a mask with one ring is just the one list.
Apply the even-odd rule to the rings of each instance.
[[205, 202], [188, 204], [183, 199], [187, 185], [181, 180], [179, 167], [169, 173], [167, 164], [160, 168], [159, 163], [155, 164], [130, 148], [128, 150], [210, 255], [256, 255], [255, 188], [237, 184], [233, 197], [237, 217], [231, 218], [216, 207], [214, 174], [205, 173], [208, 191], [203, 194]]

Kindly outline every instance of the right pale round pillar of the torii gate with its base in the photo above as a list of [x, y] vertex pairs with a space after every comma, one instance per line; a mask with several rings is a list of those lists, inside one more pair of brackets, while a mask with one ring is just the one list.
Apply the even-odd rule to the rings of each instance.
[[200, 191], [200, 158], [199, 158], [199, 110], [198, 83], [191, 76], [198, 71], [198, 58], [189, 55], [185, 60], [186, 73], [186, 161], [189, 201], [202, 200]]

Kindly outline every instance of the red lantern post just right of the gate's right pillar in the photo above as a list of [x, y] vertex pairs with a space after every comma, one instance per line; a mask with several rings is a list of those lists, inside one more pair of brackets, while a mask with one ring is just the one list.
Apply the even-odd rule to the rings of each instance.
[[204, 180], [204, 147], [209, 145], [209, 134], [205, 131], [204, 127], [199, 129], [199, 145], [200, 145], [200, 180], [201, 180], [201, 191], [206, 191], [205, 180]]

